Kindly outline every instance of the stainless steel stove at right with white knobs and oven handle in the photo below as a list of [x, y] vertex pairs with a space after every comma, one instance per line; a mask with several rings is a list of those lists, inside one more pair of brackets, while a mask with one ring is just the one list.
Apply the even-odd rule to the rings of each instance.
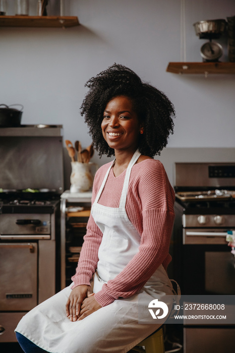
[[[235, 163], [175, 163], [172, 276], [183, 295], [235, 295]], [[184, 328], [184, 352], [234, 351], [234, 326]], [[211, 350], [210, 350], [211, 349]]]

